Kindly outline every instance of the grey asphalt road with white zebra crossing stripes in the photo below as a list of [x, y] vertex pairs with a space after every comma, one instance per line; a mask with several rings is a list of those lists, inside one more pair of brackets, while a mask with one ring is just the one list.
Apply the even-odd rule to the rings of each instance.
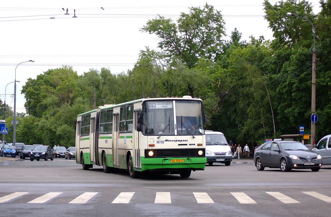
[[[330, 216], [331, 166], [258, 171], [252, 160], [205, 171], [84, 171], [75, 160], [0, 161], [0, 216]], [[21, 193], [20, 193], [21, 192]]]

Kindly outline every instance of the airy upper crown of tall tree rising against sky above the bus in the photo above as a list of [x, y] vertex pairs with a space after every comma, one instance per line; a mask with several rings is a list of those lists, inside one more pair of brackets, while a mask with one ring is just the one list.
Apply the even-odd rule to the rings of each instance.
[[207, 4], [202, 9], [192, 7], [188, 14], [181, 13], [177, 23], [159, 16], [141, 30], [156, 34], [160, 38], [159, 48], [189, 69], [195, 67], [199, 58], [213, 59], [225, 35], [221, 12]]

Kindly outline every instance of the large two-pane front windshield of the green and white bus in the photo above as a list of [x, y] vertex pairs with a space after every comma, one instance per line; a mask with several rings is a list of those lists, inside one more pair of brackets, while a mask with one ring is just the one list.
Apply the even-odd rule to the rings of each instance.
[[146, 135], [201, 135], [201, 101], [147, 101], [143, 105]]

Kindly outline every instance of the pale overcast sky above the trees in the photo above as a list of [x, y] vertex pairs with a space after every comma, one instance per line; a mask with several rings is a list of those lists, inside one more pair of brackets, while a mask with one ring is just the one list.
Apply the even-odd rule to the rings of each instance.
[[[206, 2], [222, 12], [227, 35], [236, 27], [243, 40], [249, 41], [250, 35], [272, 39], [262, 0], [1, 1], [0, 98], [5, 100], [5, 87], [15, 81], [15, 68], [24, 61], [35, 62], [16, 69], [16, 80], [21, 81], [17, 83], [17, 112], [25, 112], [21, 90], [27, 79], [36, 79], [48, 69], [69, 65], [78, 75], [91, 68], [105, 67], [112, 73], [133, 69], [140, 50], [157, 48], [157, 36], [140, 31], [148, 20], [159, 14], [175, 21], [189, 7], [203, 7]], [[318, 13], [318, 0], [310, 2]], [[14, 82], [6, 91], [6, 103], [14, 107], [12, 94]]]

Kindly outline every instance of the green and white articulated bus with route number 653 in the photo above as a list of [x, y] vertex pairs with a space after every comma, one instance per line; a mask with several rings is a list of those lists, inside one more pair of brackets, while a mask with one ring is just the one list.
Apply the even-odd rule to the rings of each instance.
[[143, 98], [77, 116], [76, 162], [84, 170], [180, 174], [204, 170], [207, 121], [201, 99]]

